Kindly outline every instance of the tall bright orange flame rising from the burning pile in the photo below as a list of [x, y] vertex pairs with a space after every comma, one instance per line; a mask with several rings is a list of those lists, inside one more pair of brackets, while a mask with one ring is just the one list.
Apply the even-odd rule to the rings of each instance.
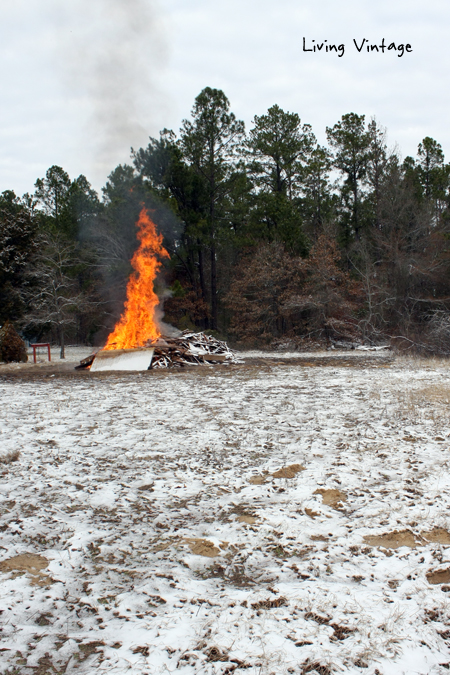
[[155, 307], [159, 299], [153, 290], [153, 282], [161, 267], [158, 256], [168, 258], [169, 254], [162, 246], [163, 236], [156, 232], [147, 209], [142, 209], [136, 225], [140, 245], [131, 259], [134, 272], [128, 280], [125, 311], [104, 349], [143, 347], [147, 340], [161, 335], [155, 322]]

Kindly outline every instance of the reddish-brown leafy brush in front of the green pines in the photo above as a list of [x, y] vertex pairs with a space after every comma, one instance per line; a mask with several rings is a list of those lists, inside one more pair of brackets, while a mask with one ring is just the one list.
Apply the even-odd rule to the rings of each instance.
[[335, 242], [322, 235], [308, 258], [288, 253], [279, 242], [259, 245], [235, 268], [225, 302], [231, 333], [242, 343], [267, 344], [281, 336], [354, 340], [362, 288], [340, 267]]

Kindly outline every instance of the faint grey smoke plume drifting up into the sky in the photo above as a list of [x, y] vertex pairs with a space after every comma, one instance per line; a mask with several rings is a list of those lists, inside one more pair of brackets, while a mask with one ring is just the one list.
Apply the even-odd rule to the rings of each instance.
[[159, 129], [162, 21], [155, 0], [72, 0], [59, 8], [59, 28], [69, 100], [82, 99], [83, 142], [94, 179], [104, 179]]

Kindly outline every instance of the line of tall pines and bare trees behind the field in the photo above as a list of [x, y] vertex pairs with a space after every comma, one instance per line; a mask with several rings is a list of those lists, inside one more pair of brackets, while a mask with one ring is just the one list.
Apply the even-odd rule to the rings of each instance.
[[205, 88], [178, 134], [131, 151], [102, 188], [58, 166], [0, 196], [0, 325], [101, 344], [118, 319], [146, 206], [170, 261], [165, 320], [241, 344], [397, 340], [450, 347], [450, 164], [344, 114], [321, 146], [273, 105], [248, 132]]

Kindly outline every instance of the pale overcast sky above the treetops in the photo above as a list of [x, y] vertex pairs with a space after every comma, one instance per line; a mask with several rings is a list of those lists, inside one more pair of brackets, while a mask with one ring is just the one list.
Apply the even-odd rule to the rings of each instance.
[[[447, 0], [0, 0], [0, 12], [0, 192], [33, 191], [53, 164], [100, 189], [131, 146], [178, 130], [205, 86], [247, 128], [278, 103], [325, 143], [356, 112], [403, 156], [432, 136], [450, 160]], [[303, 38], [345, 52], [304, 52]], [[364, 38], [412, 52], [358, 53]]]

